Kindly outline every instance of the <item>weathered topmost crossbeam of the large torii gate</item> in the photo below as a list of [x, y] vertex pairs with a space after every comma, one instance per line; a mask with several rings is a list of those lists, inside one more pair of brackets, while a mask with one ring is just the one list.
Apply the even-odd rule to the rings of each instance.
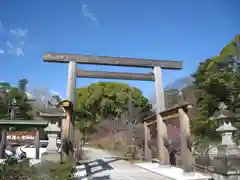
[[91, 56], [65, 53], [46, 52], [43, 56], [44, 62], [68, 63], [75, 61], [79, 64], [108, 65], [108, 66], [128, 66], [140, 68], [161, 67], [162, 69], [179, 70], [182, 69], [182, 61], [152, 60], [143, 58], [111, 57], [111, 56]]

